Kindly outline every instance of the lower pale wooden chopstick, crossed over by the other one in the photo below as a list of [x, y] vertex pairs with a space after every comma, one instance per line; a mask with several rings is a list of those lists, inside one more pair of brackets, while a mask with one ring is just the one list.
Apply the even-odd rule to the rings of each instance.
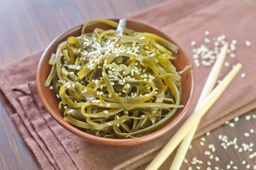
[[[220, 70], [223, 66], [223, 62], [225, 60], [225, 57], [227, 55], [228, 50], [228, 43], [225, 43], [220, 51], [220, 54], [218, 55], [215, 64], [213, 65], [211, 72], [209, 73], [209, 76], [204, 84], [204, 88], [200, 94], [200, 97], [197, 102], [197, 106], [195, 107], [194, 111], [197, 111], [199, 108], [201, 102], [207, 97], [208, 94], [213, 90], [214, 86], [216, 85], [218, 76], [220, 74]], [[187, 153], [187, 149], [190, 146], [190, 143], [194, 137], [195, 132], [197, 131], [197, 127], [200, 123], [201, 119], [198, 119], [194, 127], [192, 127], [192, 130], [186, 135], [186, 137], [183, 139], [183, 141], [180, 143], [179, 149], [175, 155], [175, 158], [173, 160], [173, 163], [171, 165], [170, 170], [179, 170], [180, 166], [183, 163], [183, 159]]]

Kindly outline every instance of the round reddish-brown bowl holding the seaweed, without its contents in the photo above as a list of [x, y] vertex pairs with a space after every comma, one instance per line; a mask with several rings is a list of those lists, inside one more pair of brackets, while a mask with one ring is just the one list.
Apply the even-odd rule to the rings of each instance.
[[[119, 19], [112, 19], [114, 21], [119, 21]], [[113, 29], [111, 26], [107, 26], [105, 24], [93, 24], [86, 28], [85, 32], [92, 32], [95, 27], [99, 27], [102, 29]], [[170, 41], [171, 43], [175, 43], [168, 35], [160, 31], [159, 29], [149, 26], [148, 24], [135, 21], [133, 19], [127, 19], [127, 27], [139, 32], [148, 32], [154, 33], [159, 35], [160, 37]], [[195, 76], [194, 76], [194, 69], [190, 69], [182, 74], [182, 93], [181, 93], [181, 102], [184, 105], [183, 108], [178, 109], [175, 115], [168, 121], [165, 125], [163, 125], [159, 130], [149, 133], [148, 135], [144, 135], [141, 137], [137, 137], [134, 139], [110, 139], [104, 137], [97, 137], [94, 135], [90, 135], [86, 132], [79, 130], [78, 128], [72, 126], [71, 124], [67, 123], [63, 119], [63, 113], [58, 110], [58, 100], [57, 97], [53, 94], [53, 92], [44, 86], [45, 80], [50, 73], [51, 66], [48, 64], [50, 56], [52, 53], [55, 53], [57, 50], [57, 46], [59, 43], [65, 41], [69, 36], [79, 36], [81, 35], [81, 28], [82, 25], [76, 26], [75, 28], [70, 29], [66, 33], [63, 33], [59, 37], [57, 37], [53, 42], [47, 47], [45, 52], [43, 53], [37, 69], [36, 75], [36, 83], [37, 89], [40, 96], [41, 101], [43, 102], [45, 108], [50, 113], [50, 115], [65, 129], [69, 130], [70, 132], [86, 139], [86, 141], [92, 144], [98, 145], [107, 145], [107, 146], [129, 146], [129, 145], [136, 145], [142, 144], [144, 142], [150, 141], [155, 139], [161, 135], [164, 135], [169, 130], [173, 129], [180, 120], [185, 116], [187, 111], [190, 109], [192, 104], [194, 93], [195, 93]], [[179, 46], [179, 45], [178, 45]], [[179, 46], [180, 47], [180, 46]], [[177, 68], [178, 71], [182, 70], [185, 66], [190, 65], [191, 61], [185, 51], [180, 47], [177, 59], [173, 60], [173, 65]]]

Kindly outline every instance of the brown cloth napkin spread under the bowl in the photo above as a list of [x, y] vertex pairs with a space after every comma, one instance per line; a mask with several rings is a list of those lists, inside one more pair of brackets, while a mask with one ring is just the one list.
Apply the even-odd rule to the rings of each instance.
[[[237, 39], [235, 59], [227, 56], [220, 79], [241, 62], [245, 78], [232, 81], [216, 104], [204, 116], [196, 137], [235, 116], [256, 108], [256, 6], [245, 0], [168, 0], [132, 17], [161, 28], [192, 56], [191, 40], [202, 43], [204, 31]], [[244, 45], [250, 40], [251, 47]], [[36, 68], [42, 52], [0, 68], [3, 103], [41, 169], [107, 170], [134, 169], [152, 160], [175, 130], [140, 146], [114, 148], [84, 142], [61, 127], [44, 109], [36, 90]], [[194, 68], [197, 90], [192, 113], [211, 67]], [[186, 119], [185, 118], [185, 119]], [[184, 119], [184, 120], [185, 120]], [[184, 122], [183, 120], [183, 122]], [[180, 126], [180, 124], [179, 124]]]

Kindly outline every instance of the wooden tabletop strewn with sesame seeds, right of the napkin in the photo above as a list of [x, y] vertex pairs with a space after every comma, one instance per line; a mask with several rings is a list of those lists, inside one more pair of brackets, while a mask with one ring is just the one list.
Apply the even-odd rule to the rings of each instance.
[[[251, 118], [246, 120], [246, 116], [250, 115]], [[239, 117], [239, 120], [235, 122], [234, 120], [230, 121], [230, 123], [234, 123], [235, 127], [230, 127], [229, 124], [222, 125], [217, 129], [210, 132], [210, 135], [201, 136], [205, 138], [204, 146], [201, 146], [200, 142], [203, 142], [201, 137], [193, 140], [191, 146], [192, 148], [188, 150], [186, 159], [187, 163], [183, 162], [181, 166], [181, 170], [187, 170], [189, 167], [192, 167], [192, 170], [197, 170], [196, 166], [199, 166], [201, 170], [206, 170], [206, 168], [211, 167], [212, 170], [215, 170], [215, 167], [218, 167], [219, 170], [226, 170], [227, 165], [230, 165], [230, 161], [233, 161], [233, 165], [231, 165], [231, 170], [233, 166], [237, 166], [238, 170], [247, 170], [246, 165], [250, 165], [250, 170], [253, 170], [253, 166], [256, 165], [256, 157], [249, 158], [249, 155], [256, 152], [256, 118], [253, 118], [252, 115], [256, 116], [256, 110], [250, 111]], [[254, 133], [251, 133], [250, 130], [254, 129]], [[244, 133], [248, 132], [250, 134], [249, 137], [245, 137]], [[238, 149], [235, 149], [235, 145], [228, 146], [227, 149], [224, 149], [221, 146], [222, 140], [218, 139], [219, 135], [226, 135], [228, 137], [228, 141], [233, 140], [235, 137], [237, 138], [237, 146], [239, 148], [243, 148], [242, 144], [250, 144], [254, 143], [253, 151], [242, 151], [241, 153]], [[216, 148], [216, 151], [212, 151], [209, 149], [209, 144], [213, 144]], [[205, 151], [211, 151], [213, 155], [213, 159], [210, 159], [209, 156], [206, 156]], [[168, 159], [163, 163], [163, 165], [159, 168], [159, 170], [169, 170], [171, 167], [172, 160], [175, 156], [175, 153], [171, 154]], [[219, 158], [219, 161], [215, 160], [215, 157]], [[198, 160], [203, 163], [197, 163], [196, 165], [192, 164], [192, 159], [196, 157]], [[211, 165], [207, 164], [207, 161], [211, 162]], [[242, 161], [246, 161], [245, 165], [242, 164]], [[144, 170], [147, 167], [148, 163], [142, 165], [138, 170]]]

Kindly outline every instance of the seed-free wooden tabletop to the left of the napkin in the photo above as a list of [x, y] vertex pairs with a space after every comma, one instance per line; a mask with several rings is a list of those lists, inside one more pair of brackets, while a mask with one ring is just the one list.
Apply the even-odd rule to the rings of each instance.
[[[126, 17], [164, 0], [1, 0], [0, 66], [44, 50], [59, 34], [92, 18]], [[37, 169], [0, 104], [0, 170]]]

